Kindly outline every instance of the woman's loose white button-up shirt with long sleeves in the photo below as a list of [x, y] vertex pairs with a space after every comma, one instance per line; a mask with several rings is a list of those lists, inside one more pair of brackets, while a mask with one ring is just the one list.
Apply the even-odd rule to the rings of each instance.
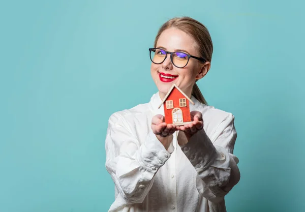
[[149, 103], [110, 116], [106, 169], [115, 201], [108, 212], [226, 211], [224, 197], [240, 178], [234, 116], [191, 99], [190, 110], [202, 113], [203, 130], [184, 146], [175, 132], [165, 149], [151, 130], [151, 118], [164, 115], [159, 93]]

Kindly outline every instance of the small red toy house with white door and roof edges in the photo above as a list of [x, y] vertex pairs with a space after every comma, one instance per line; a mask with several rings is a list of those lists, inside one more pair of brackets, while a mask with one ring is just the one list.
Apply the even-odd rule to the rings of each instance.
[[164, 106], [165, 122], [176, 126], [191, 122], [190, 102], [195, 103], [173, 84], [166, 94], [159, 108]]

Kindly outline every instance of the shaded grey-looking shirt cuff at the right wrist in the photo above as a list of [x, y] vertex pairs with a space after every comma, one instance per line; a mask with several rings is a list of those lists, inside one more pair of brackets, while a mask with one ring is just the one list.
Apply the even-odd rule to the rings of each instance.
[[189, 142], [181, 146], [196, 171], [206, 170], [218, 157], [218, 151], [202, 129], [194, 134]]

